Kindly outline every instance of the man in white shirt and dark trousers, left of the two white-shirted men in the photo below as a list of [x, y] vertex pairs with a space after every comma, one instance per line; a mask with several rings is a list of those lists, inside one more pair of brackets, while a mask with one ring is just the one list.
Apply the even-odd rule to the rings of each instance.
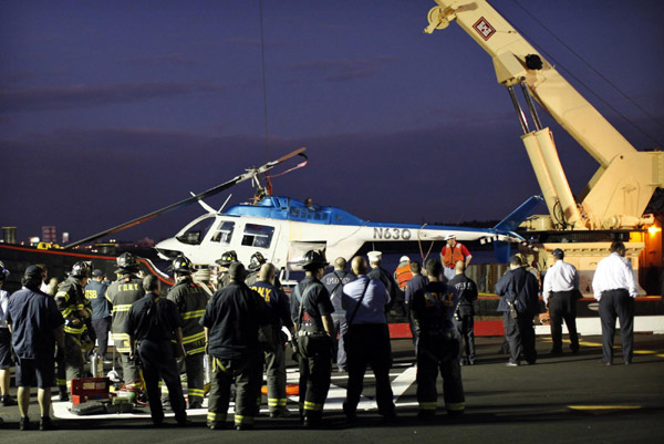
[[579, 351], [577, 333], [577, 296], [579, 295], [579, 273], [573, 265], [563, 260], [564, 251], [556, 248], [552, 252], [556, 264], [547, 270], [542, 287], [542, 299], [549, 308], [551, 322], [551, 354], [562, 354], [562, 320], [570, 333], [572, 353]]

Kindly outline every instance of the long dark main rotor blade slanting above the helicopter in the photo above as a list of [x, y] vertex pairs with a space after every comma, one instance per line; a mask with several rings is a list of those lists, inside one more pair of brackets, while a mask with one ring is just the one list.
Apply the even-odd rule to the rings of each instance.
[[210, 197], [210, 196], [214, 196], [214, 195], [219, 194], [221, 192], [225, 192], [226, 189], [231, 188], [231, 187], [234, 187], [235, 185], [237, 185], [237, 184], [239, 184], [241, 182], [248, 180], [248, 179], [250, 179], [252, 177], [256, 177], [257, 175], [259, 175], [261, 173], [270, 171], [274, 166], [279, 165], [280, 163], [282, 163], [284, 161], [288, 161], [291, 157], [294, 157], [294, 156], [298, 156], [298, 155], [302, 155], [303, 156], [302, 153], [305, 149], [307, 148], [302, 147], [302, 148], [295, 149], [295, 151], [293, 151], [293, 152], [291, 152], [291, 153], [282, 156], [282, 157], [279, 157], [277, 161], [268, 162], [267, 164], [264, 164], [262, 166], [259, 166], [258, 168], [249, 168], [249, 169], [247, 169], [247, 173], [241, 174], [239, 176], [236, 176], [236, 177], [231, 178], [230, 180], [228, 180], [228, 182], [226, 182], [226, 183], [224, 183], [221, 185], [217, 185], [217, 186], [215, 186], [215, 187], [212, 187], [210, 189], [207, 189], [207, 190], [205, 190], [205, 192], [203, 192], [200, 194], [190, 196], [190, 197], [188, 197], [188, 198], [186, 198], [184, 200], [180, 200], [180, 202], [177, 202], [175, 204], [168, 205], [167, 207], [164, 207], [164, 208], [157, 209], [155, 211], [148, 213], [148, 214], [146, 214], [144, 216], [137, 217], [137, 218], [132, 219], [129, 221], [126, 221], [124, 224], [117, 225], [117, 226], [115, 226], [113, 228], [108, 228], [108, 229], [106, 229], [104, 231], [101, 231], [101, 233], [97, 233], [95, 235], [89, 236], [89, 237], [86, 237], [84, 239], [76, 240], [75, 242], [72, 242], [72, 244], [69, 244], [69, 245], [64, 246], [64, 249], [74, 248], [74, 247], [76, 247], [79, 245], [83, 245], [83, 244], [90, 242], [92, 240], [98, 239], [100, 237], [104, 237], [104, 236], [107, 236], [107, 235], [115, 234], [117, 231], [122, 231], [124, 229], [134, 227], [134, 226], [136, 226], [138, 224], [143, 224], [146, 220], [154, 219], [155, 217], [157, 217], [159, 215], [163, 215], [164, 213], [167, 213], [167, 211], [170, 211], [170, 210], [174, 210], [174, 209], [178, 209], [178, 208], [185, 207], [185, 206], [190, 205], [190, 204], [193, 204], [193, 203], [195, 203], [197, 200], [205, 199], [207, 197]]

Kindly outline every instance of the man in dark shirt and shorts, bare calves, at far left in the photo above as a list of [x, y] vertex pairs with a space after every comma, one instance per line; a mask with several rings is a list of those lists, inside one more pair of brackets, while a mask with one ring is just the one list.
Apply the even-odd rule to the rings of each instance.
[[52, 297], [40, 291], [42, 270], [30, 266], [21, 281], [23, 288], [12, 295], [7, 307], [7, 323], [12, 333], [12, 345], [17, 355], [17, 385], [20, 430], [30, 430], [28, 409], [30, 388], [37, 376], [37, 400], [41, 415], [40, 428], [54, 428], [51, 410], [51, 385], [55, 369], [55, 342], [58, 358], [64, 353], [64, 319]]

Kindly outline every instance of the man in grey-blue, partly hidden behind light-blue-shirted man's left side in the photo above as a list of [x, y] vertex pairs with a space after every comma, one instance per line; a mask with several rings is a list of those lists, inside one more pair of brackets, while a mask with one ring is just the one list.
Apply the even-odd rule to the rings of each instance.
[[[330, 300], [334, 312], [332, 313], [332, 321], [334, 322], [334, 332], [332, 339], [334, 340], [334, 350], [336, 357], [336, 368], [340, 372], [347, 371], [346, 368], [346, 353], [343, 342], [343, 335], [347, 328], [345, 322], [345, 310], [341, 304], [341, 293], [344, 285], [355, 279], [355, 275], [346, 271], [346, 260], [339, 257], [334, 260], [334, 270], [323, 276], [322, 282], [330, 293]], [[339, 340], [336, 337], [339, 335]]]

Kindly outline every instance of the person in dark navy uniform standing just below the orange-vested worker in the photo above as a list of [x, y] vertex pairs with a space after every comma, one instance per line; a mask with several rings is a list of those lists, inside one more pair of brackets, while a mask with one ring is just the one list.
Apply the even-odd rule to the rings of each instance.
[[466, 342], [465, 355], [461, 358], [463, 365], [475, 365], [475, 307], [477, 300], [477, 285], [466, 276], [466, 264], [457, 260], [456, 275], [449, 280], [450, 286], [459, 293], [459, 304], [454, 314], [454, 323]]

